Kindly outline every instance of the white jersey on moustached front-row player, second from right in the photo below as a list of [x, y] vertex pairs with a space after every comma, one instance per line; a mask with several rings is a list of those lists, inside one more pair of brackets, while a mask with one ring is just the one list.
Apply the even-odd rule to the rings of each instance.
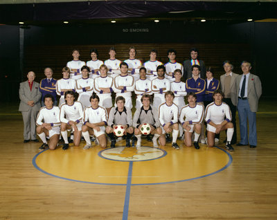
[[[186, 118], [184, 120], [184, 118]], [[204, 118], [204, 106], [203, 104], [196, 104], [194, 108], [191, 108], [188, 104], [181, 109], [179, 121], [184, 124], [185, 121], [189, 121], [190, 125], [200, 124]]]

